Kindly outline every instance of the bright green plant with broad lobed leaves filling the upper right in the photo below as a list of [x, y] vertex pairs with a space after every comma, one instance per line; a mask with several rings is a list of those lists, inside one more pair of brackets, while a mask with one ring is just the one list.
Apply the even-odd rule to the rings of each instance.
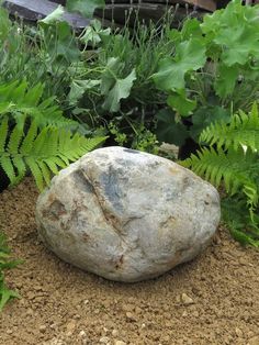
[[233, 0], [202, 22], [188, 19], [181, 31], [168, 32], [176, 49], [161, 57], [153, 76], [168, 93], [170, 110], [157, 116], [159, 140], [166, 136], [178, 145], [187, 137], [198, 141], [214, 121], [227, 122], [239, 109], [249, 111], [259, 97], [258, 16], [259, 5]]

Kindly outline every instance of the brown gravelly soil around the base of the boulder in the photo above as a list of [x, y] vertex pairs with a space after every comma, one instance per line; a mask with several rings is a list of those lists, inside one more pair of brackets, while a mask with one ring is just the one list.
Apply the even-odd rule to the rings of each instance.
[[259, 252], [226, 230], [192, 263], [154, 280], [117, 283], [43, 246], [36, 198], [30, 179], [0, 194], [1, 227], [25, 259], [7, 276], [22, 299], [0, 315], [0, 344], [259, 344]]

